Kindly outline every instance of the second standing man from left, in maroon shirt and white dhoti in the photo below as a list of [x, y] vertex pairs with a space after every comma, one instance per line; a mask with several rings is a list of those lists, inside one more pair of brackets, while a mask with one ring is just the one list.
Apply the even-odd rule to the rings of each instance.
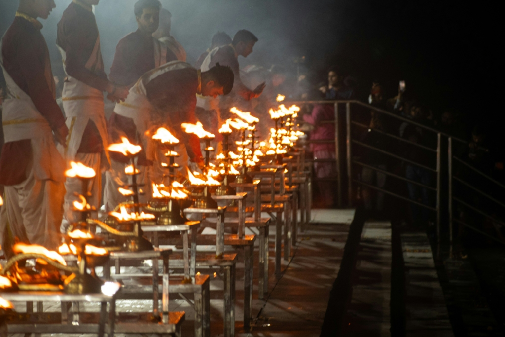
[[[110, 168], [107, 124], [104, 116], [104, 94], [111, 101], [124, 100], [128, 88], [115, 85], [104, 72], [100, 36], [91, 5], [98, 0], [74, 0], [63, 12], [58, 23], [56, 44], [62, 55], [67, 79], [63, 85], [63, 109], [69, 129], [66, 144], [59, 147], [67, 166], [81, 162], [95, 170], [88, 182], [88, 203], [98, 209], [102, 199], [102, 171]], [[65, 215], [62, 230], [78, 219], [73, 202], [82, 194], [78, 178], [65, 181]]]

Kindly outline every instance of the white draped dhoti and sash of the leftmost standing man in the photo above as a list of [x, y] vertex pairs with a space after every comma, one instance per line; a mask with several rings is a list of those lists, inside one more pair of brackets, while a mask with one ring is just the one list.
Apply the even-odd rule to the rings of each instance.
[[[1, 46], [0, 65], [4, 68]], [[54, 89], [51, 65], [47, 63], [46, 68], [47, 83]], [[30, 157], [26, 179], [5, 187], [3, 207], [7, 213], [7, 225], [26, 243], [56, 249], [63, 215], [65, 162], [56, 149], [47, 120], [5, 68], [4, 76], [10, 93], [3, 106], [5, 141], [30, 139], [31, 145], [31, 154], [24, 154]]]

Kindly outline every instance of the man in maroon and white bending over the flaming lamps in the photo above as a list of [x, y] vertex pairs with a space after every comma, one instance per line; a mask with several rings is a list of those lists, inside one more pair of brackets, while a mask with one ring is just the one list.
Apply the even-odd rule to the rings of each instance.
[[[179, 147], [177, 152], [186, 154], [189, 162], [202, 167], [199, 139], [183, 132], [181, 124], [196, 122], [197, 93], [214, 98], [228, 94], [233, 78], [233, 71], [219, 64], [200, 72], [186, 62], [172, 61], [142, 75], [130, 89], [126, 101], [116, 104], [109, 120], [111, 141], [121, 142], [121, 137], [126, 137], [129, 142], [142, 146], [136, 162], [140, 170], [137, 182], [145, 184], [145, 195], [139, 198], [141, 203], [151, 198], [151, 183], [161, 182], [161, 163], [166, 162], [162, 149], [151, 136], [159, 127], [167, 128], [185, 147], [185, 150]], [[124, 174], [129, 164], [126, 158], [111, 152], [111, 161], [112, 170], [106, 172], [104, 191], [106, 211], [126, 201], [118, 188], [129, 183]], [[181, 166], [189, 164], [187, 161], [178, 163]]]

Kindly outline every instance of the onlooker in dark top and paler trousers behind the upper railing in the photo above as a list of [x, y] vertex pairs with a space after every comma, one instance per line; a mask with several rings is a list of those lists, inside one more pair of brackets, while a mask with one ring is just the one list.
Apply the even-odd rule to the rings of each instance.
[[[372, 119], [370, 120], [370, 125], [368, 132], [365, 134], [363, 142], [367, 145], [370, 145], [374, 148], [378, 148], [381, 150], [387, 150], [388, 145], [386, 138], [387, 136], [383, 135], [380, 131], [384, 131], [382, 126], [382, 121], [380, 119], [379, 113], [372, 111]], [[365, 164], [376, 167], [380, 170], [385, 171], [387, 168], [387, 157], [373, 149], [365, 148], [363, 153], [362, 161]], [[379, 188], [384, 188], [386, 184], [386, 174], [380, 171], [374, 170], [373, 168], [363, 167], [361, 172], [361, 179], [363, 182], [369, 185], [375, 185]], [[372, 197], [375, 193], [375, 202]], [[384, 208], [384, 192], [380, 190], [376, 190], [375, 192], [369, 188], [364, 186], [362, 190], [363, 201], [365, 203], [365, 209], [367, 211], [376, 211], [377, 215], [380, 216], [380, 213]]]

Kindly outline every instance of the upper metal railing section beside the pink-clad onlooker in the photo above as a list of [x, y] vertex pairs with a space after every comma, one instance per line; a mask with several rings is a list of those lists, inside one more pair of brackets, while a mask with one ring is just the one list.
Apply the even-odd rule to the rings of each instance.
[[[388, 112], [388, 111], [385, 111], [385, 110], [382, 110], [382, 109], [379, 109], [379, 108], [376, 108], [376, 107], [373, 107], [371, 105], [368, 105], [368, 104], [365, 104], [363, 102], [360, 102], [360, 101], [356, 101], [356, 100], [347, 100], [347, 101], [323, 101], [323, 100], [318, 100], [318, 101], [293, 101], [293, 102], [288, 102], [289, 104], [293, 103], [293, 104], [326, 104], [326, 105], [329, 105], [329, 104], [333, 104], [333, 110], [334, 110], [334, 119], [333, 120], [325, 120], [325, 121], [322, 121], [320, 122], [319, 124], [328, 124], [328, 123], [334, 123], [335, 125], [335, 139], [334, 139], [334, 142], [335, 142], [335, 160], [333, 159], [326, 159], [326, 160], [316, 160], [317, 162], [327, 162], [327, 161], [335, 161], [336, 162], [336, 166], [337, 166], [337, 177], [336, 177], [336, 180], [337, 180], [337, 203], [338, 203], [338, 207], [341, 207], [342, 206], [342, 159], [343, 159], [343, 156], [342, 154], [340, 153], [341, 150], [340, 150], [340, 141], [342, 140], [343, 137], [341, 137], [340, 135], [340, 132], [339, 132], [339, 122], [340, 122], [340, 111], [339, 111], [339, 105], [342, 105], [342, 104], [345, 104], [345, 166], [346, 166], [346, 174], [347, 174], [347, 200], [348, 200], [348, 205], [349, 206], [352, 206], [352, 201], [354, 200], [353, 198], [353, 195], [354, 195], [354, 184], [360, 184], [360, 185], [363, 185], [365, 186], [366, 188], [372, 188], [372, 189], [375, 189], [375, 190], [378, 190], [378, 191], [381, 191], [387, 195], [390, 195], [390, 196], [393, 196], [393, 197], [396, 197], [398, 199], [401, 199], [401, 200], [404, 200], [404, 201], [407, 201], [411, 204], [415, 204], [419, 207], [422, 207], [422, 208], [425, 208], [425, 209], [428, 209], [430, 211], [433, 211], [433, 212], [436, 212], [436, 231], [437, 231], [437, 238], [439, 240], [440, 238], [440, 201], [441, 201], [441, 196], [440, 196], [440, 193], [441, 193], [441, 188], [440, 188], [440, 185], [441, 185], [441, 138], [442, 136], [446, 136], [446, 137], [450, 137], [450, 135], [446, 134], [446, 133], [443, 133], [443, 132], [440, 132], [439, 130], [436, 130], [434, 128], [430, 128], [426, 125], [423, 125], [421, 123], [418, 123], [416, 121], [413, 121], [411, 119], [408, 119], [408, 118], [405, 118], [405, 117], [401, 117], [401, 116], [398, 116], [394, 113], [391, 113], [391, 112]], [[351, 120], [351, 104], [352, 105], [356, 105], [356, 106], [361, 106], [361, 107], [364, 107], [367, 110], [367, 113], [370, 113], [371, 110], [379, 113], [379, 114], [382, 114], [382, 115], [385, 115], [385, 116], [388, 116], [390, 118], [393, 118], [393, 119], [396, 119], [397, 121], [400, 121], [400, 122], [406, 122], [406, 123], [409, 123], [411, 125], [414, 125], [416, 127], [419, 127], [419, 128], [422, 128], [423, 130], [427, 131], [427, 132], [431, 132], [431, 133], [434, 133], [436, 134], [436, 138], [437, 138], [437, 146], [436, 146], [436, 149], [433, 149], [431, 147], [428, 147], [426, 145], [423, 145], [423, 144], [419, 144], [419, 143], [416, 143], [416, 142], [413, 142], [413, 141], [410, 141], [409, 139], [405, 139], [405, 138], [402, 138], [398, 135], [394, 135], [394, 134], [391, 134], [391, 133], [388, 133], [388, 132], [385, 132], [385, 131], [382, 131], [382, 130], [377, 130], [377, 129], [369, 129], [369, 126], [368, 125], [365, 125], [365, 124], [362, 124], [362, 123], [359, 123], [358, 121], [354, 121], [354, 120]], [[392, 152], [389, 151], [389, 149], [380, 149], [380, 148], [376, 148], [376, 147], [373, 147], [371, 145], [368, 145], [358, 139], [352, 139], [352, 126], [355, 126], [355, 127], [361, 127], [361, 128], [366, 128], [366, 129], [369, 129], [369, 132], [378, 132], [380, 133], [382, 136], [385, 136], [385, 137], [389, 137], [391, 139], [394, 139], [396, 141], [400, 141], [400, 142], [403, 142], [403, 143], [406, 143], [406, 144], [409, 144], [411, 146], [414, 146], [414, 147], [417, 147], [419, 149], [422, 149], [424, 151], [428, 151], [430, 153], [434, 153], [436, 154], [436, 167], [433, 168], [433, 167], [430, 167], [428, 165], [425, 165], [424, 163], [418, 163], [418, 162], [415, 162], [415, 161], [412, 161], [408, 158], [405, 158], [403, 156], [400, 156], [398, 154], [394, 154]], [[455, 139], [454, 137], [452, 137], [453, 139]], [[458, 139], [460, 141], [464, 141], [462, 139]], [[317, 141], [311, 141], [311, 142], [314, 142], [314, 143], [325, 143], [325, 142], [331, 142], [332, 140], [331, 139], [327, 139], [327, 140], [317, 140]], [[366, 148], [368, 150], [371, 150], [371, 151], [374, 151], [376, 153], [380, 153], [382, 155], [385, 155], [385, 156], [388, 156], [389, 158], [393, 158], [393, 159], [396, 159], [396, 160], [399, 160], [401, 162], [404, 162], [404, 163], [408, 163], [410, 165], [414, 165], [414, 166], [417, 166], [417, 167], [420, 167], [420, 168], [423, 168], [425, 170], [428, 170], [430, 172], [433, 172], [436, 174], [436, 186], [430, 186], [430, 185], [426, 185], [426, 184], [423, 184], [419, 181], [415, 181], [415, 180], [412, 180], [412, 179], [409, 179], [405, 176], [401, 176], [401, 175], [398, 175], [398, 174], [395, 174], [393, 172], [390, 172], [390, 171], [387, 171], [387, 170], [383, 170], [383, 169], [380, 169], [378, 167], [375, 167], [373, 165], [369, 165], [367, 163], [364, 163], [362, 161], [359, 161], [359, 160], [356, 160], [355, 158], [352, 157], [352, 153], [353, 153], [353, 146], [359, 146], [359, 147], [362, 147], [362, 148]], [[402, 181], [406, 181], [407, 183], [412, 183], [412, 184], [415, 184], [417, 186], [420, 186], [422, 188], [427, 188], [429, 190], [432, 190], [432, 191], [435, 191], [436, 192], [436, 206], [433, 207], [433, 206], [430, 206], [430, 205], [426, 205], [424, 203], [420, 203], [418, 202], [417, 200], [412, 200], [408, 197], [405, 197], [405, 196], [402, 196], [402, 195], [399, 195], [393, 191], [390, 191], [390, 190], [386, 190], [384, 188], [380, 188], [378, 186], [375, 186], [375, 185], [372, 185], [372, 184], [368, 184], [360, 179], [357, 179], [355, 178], [355, 174], [354, 174], [354, 171], [353, 171], [353, 166], [354, 165], [358, 165], [358, 166], [361, 166], [361, 167], [366, 167], [366, 168], [369, 168], [371, 170], [374, 170], [376, 172], [380, 172], [382, 174], [386, 174], [387, 176], [390, 176], [390, 177], [394, 177], [394, 178], [397, 178], [397, 179], [400, 179]], [[330, 180], [330, 179], [328, 179]]]

